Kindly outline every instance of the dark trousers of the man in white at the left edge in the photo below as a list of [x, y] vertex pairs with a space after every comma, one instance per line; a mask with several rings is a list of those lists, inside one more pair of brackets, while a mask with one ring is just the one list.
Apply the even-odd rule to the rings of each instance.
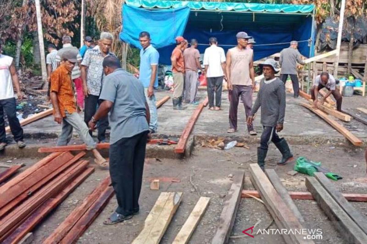
[[0, 143], [6, 141], [6, 132], [5, 132], [5, 120], [4, 120], [4, 111], [6, 116], [8, 117], [8, 122], [10, 126], [11, 133], [14, 136], [14, 140], [18, 142], [19, 140], [23, 140], [23, 129], [19, 120], [17, 118], [17, 105], [15, 103], [15, 98], [8, 98], [0, 100]]

